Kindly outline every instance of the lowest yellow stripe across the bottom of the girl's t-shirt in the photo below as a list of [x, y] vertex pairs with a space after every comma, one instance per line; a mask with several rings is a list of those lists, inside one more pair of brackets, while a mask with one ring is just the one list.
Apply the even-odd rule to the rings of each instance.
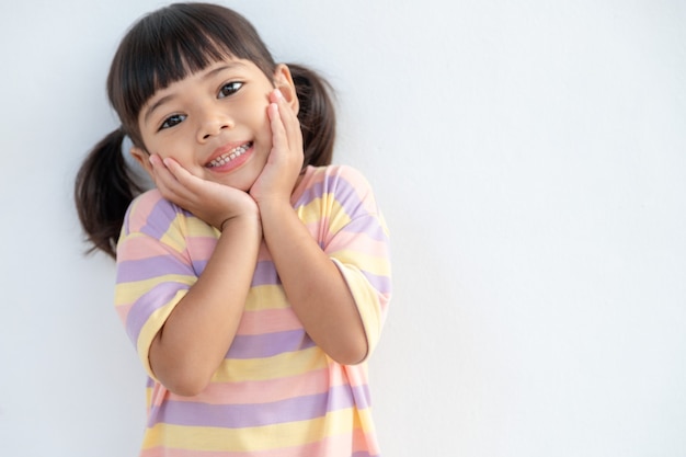
[[[363, 422], [369, 421], [363, 420]], [[361, 421], [352, 408], [309, 421], [247, 429], [157, 424], [147, 431], [142, 448], [165, 446], [176, 449], [225, 453], [268, 450], [302, 446], [327, 436], [352, 433], [353, 430], [361, 426]], [[363, 432], [367, 433], [364, 430]]]

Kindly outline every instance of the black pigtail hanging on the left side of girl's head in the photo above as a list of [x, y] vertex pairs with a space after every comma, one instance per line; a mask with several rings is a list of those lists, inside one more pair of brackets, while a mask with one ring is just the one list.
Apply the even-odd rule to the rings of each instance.
[[134, 197], [142, 192], [134, 173], [122, 155], [124, 133], [116, 129], [91, 150], [77, 174], [75, 199], [89, 250], [104, 251], [116, 256], [126, 209]]

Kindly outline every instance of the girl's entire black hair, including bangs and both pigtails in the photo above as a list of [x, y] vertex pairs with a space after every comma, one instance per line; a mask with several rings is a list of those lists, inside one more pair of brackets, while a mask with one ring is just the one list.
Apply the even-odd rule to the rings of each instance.
[[[252, 24], [217, 4], [171, 4], [141, 18], [124, 36], [107, 77], [107, 95], [122, 127], [95, 145], [76, 179], [76, 205], [91, 251], [116, 256], [128, 205], [144, 191], [122, 155], [126, 136], [146, 150], [138, 127], [140, 110], [158, 90], [227, 57], [252, 61], [270, 80], [276, 69]], [[335, 138], [331, 87], [305, 66], [288, 68], [300, 105], [302, 167], [330, 164]]]

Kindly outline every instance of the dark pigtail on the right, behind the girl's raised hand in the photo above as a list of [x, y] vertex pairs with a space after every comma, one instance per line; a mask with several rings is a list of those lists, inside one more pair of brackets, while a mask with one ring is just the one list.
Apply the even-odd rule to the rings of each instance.
[[300, 102], [298, 121], [302, 130], [304, 167], [331, 164], [336, 123], [333, 90], [327, 80], [306, 67], [288, 64], [288, 68]]

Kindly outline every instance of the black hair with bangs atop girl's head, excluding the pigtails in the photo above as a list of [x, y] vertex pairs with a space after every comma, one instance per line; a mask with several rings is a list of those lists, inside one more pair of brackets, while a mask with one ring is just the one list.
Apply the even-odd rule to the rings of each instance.
[[[201, 8], [198, 8], [201, 7]], [[253, 26], [211, 4], [173, 4], [140, 20], [122, 42], [107, 80], [129, 130], [160, 89], [227, 58], [248, 59], [271, 78], [275, 64]]]

